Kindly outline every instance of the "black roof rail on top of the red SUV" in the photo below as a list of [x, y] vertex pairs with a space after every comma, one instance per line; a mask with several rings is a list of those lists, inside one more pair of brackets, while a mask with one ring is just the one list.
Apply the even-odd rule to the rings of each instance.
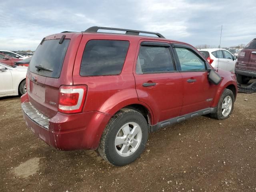
[[121, 29], [121, 28], [112, 28], [112, 27], [97, 27], [93, 26], [88, 29], [86, 29], [84, 32], [98, 32], [99, 29], [103, 30], [115, 30], [115, 31], [126, 31], [126, 35], [140, 35], [140, 33], [145, 33], [145, 34], [153, 34], [156, 35], [160, 38], [165, 38], [162, 34], [160, 33], [154, 33], [154, 32], [148, 32], [148, 31], [138, 31], [138, 30], [130, 30], [130, 29]]

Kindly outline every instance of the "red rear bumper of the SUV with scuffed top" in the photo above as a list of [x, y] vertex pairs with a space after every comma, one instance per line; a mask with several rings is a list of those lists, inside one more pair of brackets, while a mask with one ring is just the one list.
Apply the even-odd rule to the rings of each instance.
[[[26, 95], [22, 96], [22, 100], [29, 102]], [[57, 112], [54, 117], [41, 120], [40, 117], [35, 118], [32, 109], [30, 112], [26, 110], [24, 106], [28, 105], [30, 104], [24, 105], [22, 102], [23, 117], [28, 128], [48, 145], [59, 150], [96, 149], [111, 118], [110, 115], [100, 112], [68, 115]]]

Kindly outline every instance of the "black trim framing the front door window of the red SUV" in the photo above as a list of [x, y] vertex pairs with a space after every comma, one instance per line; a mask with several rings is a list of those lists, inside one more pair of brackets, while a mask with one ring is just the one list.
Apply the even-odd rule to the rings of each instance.
[[[175, 57], [176, 57], [176, 62], [177, 62], [177, 65], [178, 65], [179, 72], [208, 72], [209, 69], [212, 69], [210, 64], [207, 62], [206, 58], [204, 58], [203, 56], [200, 56], [193, 47], [185, 45], [185, 44], [179, 44], [179, 43], [172, 43], [171, 45], [172, 45], [172, 49], [174, 50], [174, 54], [175, 54]], [[178, 58], [178, 54], [177, 54], [176, 49], [175, 49], [176, 47], [177, 48], [186, 48], [186, 49], [191, 50], [194, 54], [196, 54], [196, 56], [198, 56], [199, 58], [202, 59], [202, 61], [204, 61], [205, 70], [182, 70], [181, 66], [180, 66], [180, 60]]]

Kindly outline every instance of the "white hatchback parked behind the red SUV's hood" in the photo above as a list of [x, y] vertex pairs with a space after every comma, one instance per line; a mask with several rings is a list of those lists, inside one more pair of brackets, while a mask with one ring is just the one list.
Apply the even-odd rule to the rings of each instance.
[[199, 49], [199, 52], [215, 68], [235, 72], [236, 56], [226, 49], [209, 48]]

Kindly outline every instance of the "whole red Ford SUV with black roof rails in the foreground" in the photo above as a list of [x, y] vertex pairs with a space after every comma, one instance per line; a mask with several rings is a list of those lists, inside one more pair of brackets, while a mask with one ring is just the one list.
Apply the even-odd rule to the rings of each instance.
[[149, 132], [228, 118], [237, 93], [235, 74], [216, 72], [189, 44], [104, 27], [43, 38], [26, 84], [22, 110], [36, 136], [59, 150], [97, 149], [115, 166], [138, 158]]

